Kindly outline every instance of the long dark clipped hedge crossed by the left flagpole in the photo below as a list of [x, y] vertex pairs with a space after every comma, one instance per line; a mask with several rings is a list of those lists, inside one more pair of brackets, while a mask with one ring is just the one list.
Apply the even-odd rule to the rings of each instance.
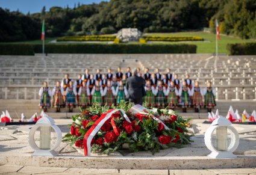
[[[195, 54], [196, 45], [141, 44], [47, 44], [48, 54]], [[34, 55], [42, 53], [42, 45], [0, 44], [0, 55]]]

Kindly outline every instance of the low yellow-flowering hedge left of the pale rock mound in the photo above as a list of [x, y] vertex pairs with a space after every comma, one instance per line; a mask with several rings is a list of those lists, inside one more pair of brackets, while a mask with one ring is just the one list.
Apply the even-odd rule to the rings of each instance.
[[65, 36], [60, 37], [57, 41], [114, 41], [116, 36], [104, 35], [83, 35], [83, 36]]

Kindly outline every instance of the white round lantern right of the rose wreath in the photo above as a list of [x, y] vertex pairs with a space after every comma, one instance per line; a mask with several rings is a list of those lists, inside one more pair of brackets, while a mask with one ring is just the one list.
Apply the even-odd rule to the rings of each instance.
[[204, 143], [211, 150], [211, 158], [236, 158], [233, 152], [239, 146], [239, 134], [231, 122], [220, 116], [206, 130]]

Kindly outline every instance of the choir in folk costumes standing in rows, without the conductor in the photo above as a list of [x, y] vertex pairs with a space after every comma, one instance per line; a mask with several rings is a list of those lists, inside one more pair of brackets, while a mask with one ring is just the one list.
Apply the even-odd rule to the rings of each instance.
[[[61, 83], [57, 82], [52, 91], [47, 82], [44, 82], [39, 91], [39, 106], [46, 111], [51, 106], [51, 96], [53, 96], [52, 103], [57, 111], [60, 111], [60, 108], [65, 105], [69, 107], [69, 111], [72, 111], [76, 105], [86, 108], [94, 102], [99, 102], [102, 105], [118, 105], [121, 100], [127, 98], [125, 85], [126, 77], [131, 76], [130, 67], [127, 70], [128, 72], [125, 75], [120, 72], [120, 68], [117, 69], [116, 75], [111, 73], [111, 69], [108, 69], [107, 75], [102, 75], [99, 70], [97, 70], [96, 75], [90, 75], [89, 70], [86, 69], [86, 74], [78, 75], [76, 81], [69, 79], [69, 75], [66, 74], [63, 81]], [[153, 73], [151, 75], [148, 71], [149, 69], [146, 69], [145, 75], [138, 76], [142, 76], [146, 80], [144, 101], [149, 106], [158, 108], [181, 106], [183, 111], [186, 112], [186, 108], [189, 106], [195, 106], [195, 110], [198, 111], [201, 106], [205, 105], [208, 111], [211, 111], [211, 108], [216, 105], [215, 90], [211, 87], [210, 82], [207, 84], [207, 88], [202, 90], [198, 82], [195, 82], [194, 87], [189, 75], [181, 84], [177, 75], [172, 78], [172, 74], [160, 75], [160, 73]], [[167, 69], [168, 71], [170, 70]], [[204, 103], [202, 102], [203, 96], [205, 97]]]

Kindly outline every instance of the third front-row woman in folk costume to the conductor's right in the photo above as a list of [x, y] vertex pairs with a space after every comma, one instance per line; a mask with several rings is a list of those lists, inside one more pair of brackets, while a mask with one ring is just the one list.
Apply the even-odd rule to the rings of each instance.
[[175, 87], [173, 81], [170, 82], [170, 86], [167, 88], [165, 95], [167, 96], [167, 103], [170, 109], [173, 109], [175, 108], [175, 106], [178, 106], [179, 92]]

